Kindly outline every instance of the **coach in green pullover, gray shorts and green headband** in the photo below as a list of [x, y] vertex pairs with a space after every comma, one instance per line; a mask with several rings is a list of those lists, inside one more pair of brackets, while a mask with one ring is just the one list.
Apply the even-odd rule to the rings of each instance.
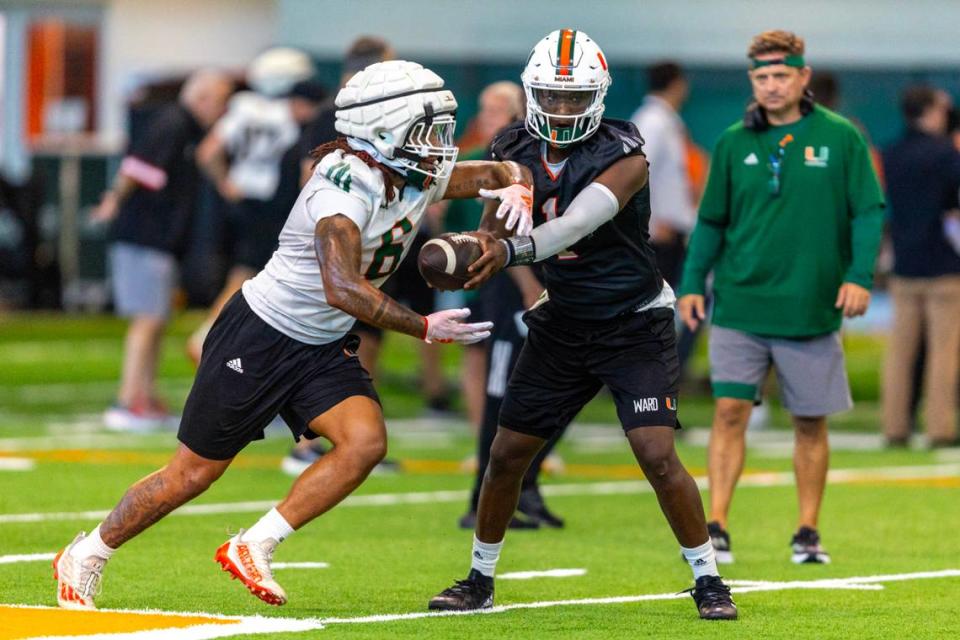
[[708, 527], [720, 562], [733, 561], [727, 514], [771, 367], [796, 430], [792, 560], [830, 561], [817, 531], [826, 416], [852, 406], [838, 330], [870, 302], [884, 202], [863, 136], [806, 92], [803, 54], [789, 32], [753, 39], [755, 102], [717, 143], [680, 287], [680, 316], [694, 329], [713, 271]]

